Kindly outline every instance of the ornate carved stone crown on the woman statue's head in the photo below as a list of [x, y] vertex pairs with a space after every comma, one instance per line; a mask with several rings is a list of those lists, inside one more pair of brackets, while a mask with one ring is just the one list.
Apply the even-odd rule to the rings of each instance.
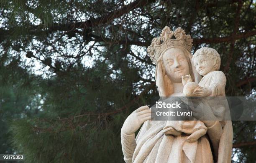
[[[175, 39], [172, 39], [173, 36]], [[181, 27], [178, 27], [175, 31], [172, 31], [170, 27], [165, 26], [162, 30], [160, 37], [155, 37], [151, 45], [148, 46], [148, 54], [154, 64], [156, 64], [161, 53], [169, 47], [184, 47], [191, 52], [192, 38], [190, 35], [186, 35], [185, 31]]]

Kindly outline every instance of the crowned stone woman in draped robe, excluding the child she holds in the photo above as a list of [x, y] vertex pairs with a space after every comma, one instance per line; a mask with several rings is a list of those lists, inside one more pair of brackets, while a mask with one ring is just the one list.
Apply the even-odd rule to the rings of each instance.
[[[152, 40], [148, 54], [156, 64], [156, 86], [160, 96], [184, 96], [182, 76], [190, 74], [192, 82], [200, 82], [201, 76], [192, 62], [191, 48], [190, 35], [186, 35], [180, 27], [175, 31], [164, 27], [160, 37]], [[202, 85], [205, 89], [208, 86], [207, 82]], [[201, 94], [201, 91], [197, 93]], [[125, 162], [230, 163], [233, 140], [231, 121], [225, 121], [223, 125], [219, 121], [202, 122], [207, 127], [207, 133], [194, 142], [186, 143], [189, 135], [164, 134], [166, 121], [151, 121], [151, 110], [148, 106], [141, 106], [128, 116], [121, 129]], [[142, 124], [135, 138], [135, 132]]]

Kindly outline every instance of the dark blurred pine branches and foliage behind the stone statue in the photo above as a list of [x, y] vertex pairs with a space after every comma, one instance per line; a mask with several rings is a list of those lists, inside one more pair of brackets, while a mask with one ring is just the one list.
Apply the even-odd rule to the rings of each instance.
[[[121, 163], [125, 118], [159, 96], [146, 48], [167, 25], [215, 48], [227, 96], [256, 90], [255, 0], [1, 0], [0, 153], [26, 163]], [[256, 123], [233, 121], [233, 162]]]

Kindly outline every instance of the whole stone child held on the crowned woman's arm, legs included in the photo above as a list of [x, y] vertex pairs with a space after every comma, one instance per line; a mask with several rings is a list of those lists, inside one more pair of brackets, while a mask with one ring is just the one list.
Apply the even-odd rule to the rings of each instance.
[[[195, 64], [197, 72], [204, 77], [199, 84], [196, 84], [192, 82], [190, 75], [182, 76], [184, 95], [200, 97], [225, 96], [226, 77], [223, 72], [218, 71], [220, 69], [220, 54], [215, 49], [203, 47], [195, 52], [192, 62]], [[220, 119], [220, 124], [223, 126], [224, 121], [221, 120], [223, 120], [223, 115], [225, 114], [225, 104], [210, 104], [210, 106], [212, 108], [207, 111], [213, 112]], [[209, 120], [213, 119], [209, 118]], [[206, 133], [207, 128], [205, 128], [202, 121], [167, 121], [163, 129], [166, 135], [178, 136], [181, 133], [191, 134], [187, 139], [188, 142], [193, 142]]]

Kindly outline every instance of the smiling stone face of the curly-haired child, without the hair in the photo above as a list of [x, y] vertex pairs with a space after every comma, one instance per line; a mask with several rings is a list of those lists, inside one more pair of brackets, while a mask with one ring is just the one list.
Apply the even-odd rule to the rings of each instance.
[[205, 76], [211, 71], [215, 71], [214, 60], [207, 59], [206, 56], [200, 54], [193, 59], [198, 74]]

